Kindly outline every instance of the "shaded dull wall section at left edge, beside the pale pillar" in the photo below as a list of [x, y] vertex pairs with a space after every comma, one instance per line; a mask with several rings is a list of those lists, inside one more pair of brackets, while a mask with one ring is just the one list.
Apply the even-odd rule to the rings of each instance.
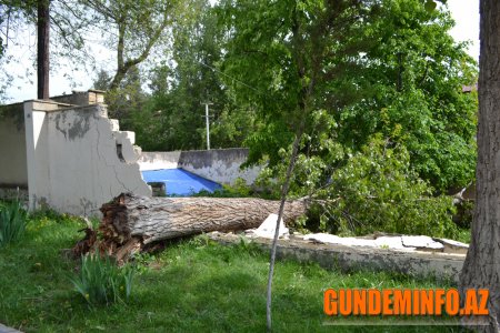
[[18, 117], [0, 114], [0, 188], [27, 188], [26, 131], [22, 105]]

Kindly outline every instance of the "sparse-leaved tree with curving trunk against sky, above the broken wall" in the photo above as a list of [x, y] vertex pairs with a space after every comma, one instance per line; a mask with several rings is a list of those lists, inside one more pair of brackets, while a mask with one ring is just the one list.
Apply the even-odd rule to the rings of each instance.
[[[116, 71], [110, 89], [117, 89], [129, 70], [146, 62], [157, 50], [163, 51], [168, 47], [171, 30], [184, 24], [190, 8], [177, 0], [3, 0], [0, 1], [0, 11], [36, 22], [39, 43], [43, 48], [49, 44], [48, 24], [51, 22], [53, 40], [58, 42], [51, 59], [57, 56], [69, 58], [79, 67], [90, 63], [94, 68], [93, 54], [84, 46], [89, 40], [94, 42], [99, 36], [110, 50], [116, 51]], [[0, 31], [12, 29], [9, 18], [0, 19]], [[16, 27], [22, 28], [22, 24]], [[1, 38], [2, 52], [4, 40]], [[48, 64], [48, 59], [40, 58], [39, 62]], [[40, 80], [48, 77], [46, 72], [40, 71]]]

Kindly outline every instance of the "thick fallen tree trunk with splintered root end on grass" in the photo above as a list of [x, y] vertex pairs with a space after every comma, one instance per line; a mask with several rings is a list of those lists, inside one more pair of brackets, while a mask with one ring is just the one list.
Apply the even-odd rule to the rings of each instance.
[[[76, 254], [96, 248], [119, 260], [153, 242], [210, 231], [238, 231], [259, 226], [279, 201], [254, 198], [148, 198], [120, 194], [101, 206], [101, 238], [80, 241]], [[283, 221], [290, 223], [307, 211], [306, 200], [288, 201]], [[91, 239], [92, 244], [89, 244]], [[98, 239], [100, 239], [98, 241]], [[83, 243], [82, 243], [83, 242]], [[84, 245], [83, 245], [84, 244]], [[88, 251], [88, 250], [87, 250]]]

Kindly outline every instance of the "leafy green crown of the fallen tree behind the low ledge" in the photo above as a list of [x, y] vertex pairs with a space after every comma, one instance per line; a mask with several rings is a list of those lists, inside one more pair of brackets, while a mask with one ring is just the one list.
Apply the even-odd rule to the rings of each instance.
[[[379, 135], [354, 154], [344, 151], [346, 158], [334, 143], [318, 151], [321, 158], [302, 153], [297, 159], [290, 196], [308, 195], [320, 204], [309, 211], [314, 216], [298, 220], [296, 228], [313, 226], [343, 235], [376, 231], [457, 235], [451, 196], [433, 195], [432, 188], [411, 169], [410, 154], [403, 145]], [[286, 165], [289, 150], [280, 153]], [[259, 182], [278, 191], [284, 172], [280, 165], [266, 168]]]

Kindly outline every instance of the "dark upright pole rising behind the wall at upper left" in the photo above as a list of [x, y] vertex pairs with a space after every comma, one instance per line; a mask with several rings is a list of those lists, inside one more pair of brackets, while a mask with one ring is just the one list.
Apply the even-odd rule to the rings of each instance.
[[50, 0], [38, 0], [37, 98], [49, 99]]

